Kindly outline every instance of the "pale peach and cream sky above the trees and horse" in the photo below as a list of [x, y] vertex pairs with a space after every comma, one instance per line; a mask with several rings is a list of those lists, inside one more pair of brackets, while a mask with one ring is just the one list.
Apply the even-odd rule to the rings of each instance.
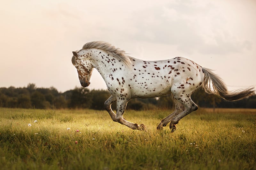
[[[256, 87], [255, 0], [9, 0], [0, 6], [0, 87], [81, 87], [72, 51], [107, 41], [142, 60], [187, 57], [228, 89]], [[89, 89], [107, 89], [93, 70]]]

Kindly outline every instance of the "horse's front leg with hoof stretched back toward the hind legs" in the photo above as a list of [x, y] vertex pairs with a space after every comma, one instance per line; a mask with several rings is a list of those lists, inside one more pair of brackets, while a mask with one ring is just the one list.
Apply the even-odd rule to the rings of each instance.
[[[129, 100], [128, 100], [129, 101]], [[127, 102], [125, 100], [117, 100], [116, 103], [116, 121], [131, 128], [131, 129], [137, 129], [137, 130], [145, 130], [145, 125], [137, 123], [128, 122], [123, 118], [124, 110], [126, 108]]]

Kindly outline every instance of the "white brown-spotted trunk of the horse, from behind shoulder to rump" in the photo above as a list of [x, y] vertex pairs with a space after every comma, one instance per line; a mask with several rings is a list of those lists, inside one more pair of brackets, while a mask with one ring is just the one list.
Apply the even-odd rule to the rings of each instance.
[[132, 98], [163, 96], [170, 94], [171, 89], [196, 89], [203, 81], [201, 66], [187, 58], [159, 61], [131, 58], [131, 61], [132, 74], [128, 75]]

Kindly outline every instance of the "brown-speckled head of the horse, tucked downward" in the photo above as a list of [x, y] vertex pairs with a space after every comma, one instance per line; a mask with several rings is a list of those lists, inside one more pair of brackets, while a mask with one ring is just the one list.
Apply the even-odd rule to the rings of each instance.
[[90, 78], [92, 75], [93, 66], [91, 61], [88, 60], [84, 55], [79, 55], [79, 52], [72, 52], [72, 63], [76, 67], [78, 72], [78, 78], [83, 87], [87, 87], [90, 85]]

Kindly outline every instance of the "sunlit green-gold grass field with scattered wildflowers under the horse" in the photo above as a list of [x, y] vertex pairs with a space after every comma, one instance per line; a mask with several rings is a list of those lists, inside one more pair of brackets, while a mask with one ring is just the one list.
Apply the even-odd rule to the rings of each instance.
[[0, 108], [0, 169], [256, 169], [256, 109], [215, 111], [171, 133], [156, 130], [169, 110], [126, 110], [138, 131], [106, 111]]

